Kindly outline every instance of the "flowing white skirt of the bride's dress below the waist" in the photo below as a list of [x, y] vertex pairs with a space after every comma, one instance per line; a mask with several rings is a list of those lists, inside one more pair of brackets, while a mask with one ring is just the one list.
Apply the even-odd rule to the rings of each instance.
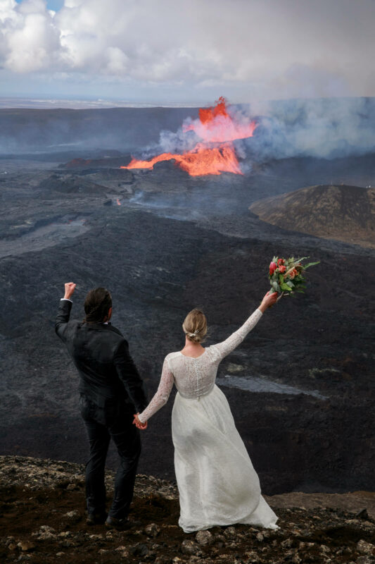
[[234, 523], [278, 528], [220, 388], [196, 399], [177, 393], [172, 439], [184, 532]]

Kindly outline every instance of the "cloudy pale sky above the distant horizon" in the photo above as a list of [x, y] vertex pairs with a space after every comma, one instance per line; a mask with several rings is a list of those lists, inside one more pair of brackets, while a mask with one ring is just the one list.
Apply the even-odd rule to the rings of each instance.
[[0, 0], [0, 97], [375, 96], [375, 0]]

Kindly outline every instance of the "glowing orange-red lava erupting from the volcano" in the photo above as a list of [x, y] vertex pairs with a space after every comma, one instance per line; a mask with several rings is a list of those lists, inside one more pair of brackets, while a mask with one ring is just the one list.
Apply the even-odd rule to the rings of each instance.
[[163, 153], [148, 161], [132, 159], [127, 166], [120, 168], [153, 168], [155, 163], [173, 159], [190, 176], [222, 172], [243, 174], [233, 141], [253, 137], [256, 127], [255, 121], [246, 123], [235, 121], [227, 112], [225, 99], [220, 97], [215, 106], [201, 108], [197, 120], [183, 125], [184, 133], [193, 131], [202, 140], [191, 151], [182, 154]]

